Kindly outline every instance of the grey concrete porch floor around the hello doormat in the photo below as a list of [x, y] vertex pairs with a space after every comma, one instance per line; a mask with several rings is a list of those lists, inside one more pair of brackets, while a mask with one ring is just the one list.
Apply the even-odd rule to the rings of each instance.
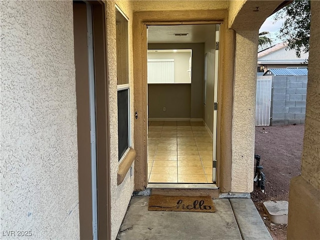
[[272, 239], [250, 198], [217, 198], [215, 212], [148, 211], [134, 196], [118, 240]]

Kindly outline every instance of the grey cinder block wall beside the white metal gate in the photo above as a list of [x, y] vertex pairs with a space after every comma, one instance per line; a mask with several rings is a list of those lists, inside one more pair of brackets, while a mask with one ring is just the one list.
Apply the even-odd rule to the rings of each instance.
[[304, 123], [307, 76], [272, 76], [270, 125]]

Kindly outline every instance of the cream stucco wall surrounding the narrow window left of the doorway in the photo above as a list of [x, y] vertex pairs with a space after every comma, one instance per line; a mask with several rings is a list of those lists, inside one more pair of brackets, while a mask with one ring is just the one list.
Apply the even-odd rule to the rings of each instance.
[[[117, 125], [117, 77], [116, 77], [116, 40], [115, 40], [115, 4], [128, 17], [129, 30], [129, 82], [130, 82], [130, 113], [131, 143], [133, 145], [133, 77], [132, 77], [132, 10], [130, 1], [106, 1], [107, 31], [107, 71], [109, 82], [109, 124], [110, 124], [110, 197], [111, 197], [111, 239], [115, 239], [122, 219], [129, 204], [133, 187], [134, 175], [127, 172], [123, 182], [117, 185], [118, 171], [118, 125]], [[133, 167], [134, 163], [132, 163]]]

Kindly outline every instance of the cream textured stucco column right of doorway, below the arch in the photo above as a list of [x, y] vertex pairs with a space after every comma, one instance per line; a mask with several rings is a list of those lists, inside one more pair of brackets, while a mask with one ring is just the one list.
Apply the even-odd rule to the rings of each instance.
[[[236, 33], [231, 191], [253, 190], [257, 31]], [[243, 47], [245, 46], [245, 47]]]

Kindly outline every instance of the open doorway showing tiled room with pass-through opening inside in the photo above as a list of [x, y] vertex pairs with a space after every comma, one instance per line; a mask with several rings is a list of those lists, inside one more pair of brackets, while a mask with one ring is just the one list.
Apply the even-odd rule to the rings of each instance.
[[148, 183], [216, 181], [218, 27], [148, 26]]

